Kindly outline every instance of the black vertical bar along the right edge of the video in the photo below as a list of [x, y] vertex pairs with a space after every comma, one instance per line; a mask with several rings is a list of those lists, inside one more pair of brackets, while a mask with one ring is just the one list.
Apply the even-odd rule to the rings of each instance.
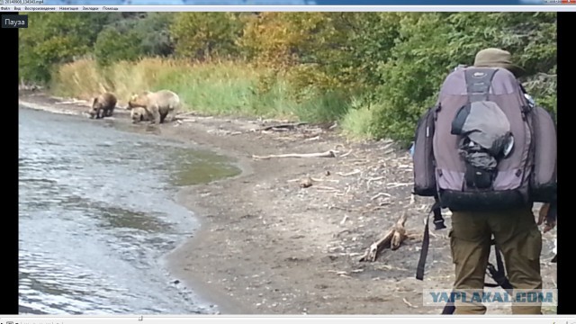
[[[568, 115], [574, 112], [574, 105], [576, 101], [574, 100], [574, 88], [572, 76], [576, 71], [574, 71], [574, 52], [573, 52], [573, 40], [574, 40], [574, 31], [576, 31], [576, 13], [568, 13], [562, 12], [558, 13], [558, 114], [556, 116], [556, 121], [560, 124], [561, 116], [565, 118], [570, 118]], [[565, 121], [568, 127], [574, 127], [572, 121], [566, 120]], [[569, 130], [563, 128], [562, 125], [558, 125], [558, 171], [559, 175], [563, 175], [564, 180], [560, 181], [559, 188], [562, 188], [563, 183], [569, 181], [567, 176], [569, 173], [563, 173], [562, 171], [562, 162], [563, 159], [561, 157], [562, 154], [566, 155], [566, 158], [571, 155], [571, 153], [563, 153], [564, 151], [562, 148], [566, 148], [568, 151], [570, 150], [570, 140], [573, 134], [567, 133], [566, 135], [562, 135], [563, 130]], [[561, 142], [564, 139], [566, 141], [566, 145], [562, 145]], [[573, 154], [573, 153], [572, 153]], [[567, 162], [567, 164], [570, 162]], [[573, 162], [572, 162], [573, 163]], [[560, 177], [560, 176], [559, 176]], [[559, 194], [562, 193], [562, 189], [559, 189]], [[571, 197], [567, 196], [566, 193], [566, 202], [571, 199]], [[562, 194], [561, 194], [562, 195]], [[573, 199], [573, 198], [572, 198]], [[562, 199], [559, 199], [562, 201]], [[560, 206], [563, 206], [560, 203]], [[566, 203], [566, 206], [569, 206]], [[560, 207], [562, 210], [563, 207]], [[572, 208], [573, 210], [573, 208]], [[571, 257], [570, 255], [573, 252], [572, 244], [574, 244], [574, 232], [572, 229], [576, 228], [576, 224], [574, 224], [574, 217], [570, 215], [571, 210], [566, 208], [563, 211], [560, 211], [559, 214], [559, 221], [558, 221], [558, 228], [557, 230], [557, 239], [558, 239], [558, 254], [560, 258], [558, 259], [558, 314], [568, 315], [568, 314], [576, 314], [576, 307], [574, 307], [574, 292], [576, 289], [576, 277], [574, 276], [574, 269], [571, 264]], [[572, 211], [573, 212], [573, 211]], [[574, 225], [572, 225], [574, 224]], [[560, 288], [562, 287], [562, 288]]]

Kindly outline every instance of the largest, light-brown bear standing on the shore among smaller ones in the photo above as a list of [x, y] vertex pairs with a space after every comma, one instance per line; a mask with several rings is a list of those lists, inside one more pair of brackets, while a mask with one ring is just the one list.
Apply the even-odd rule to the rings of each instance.
[[180, 108], [180, 97], [170, 90], [160, 90], [155, 93], [145, 91], [133, 94], [128, 101], [128, 109], [142, 107], [148, 112], [150, 123], [163, 123], [168, 112]]

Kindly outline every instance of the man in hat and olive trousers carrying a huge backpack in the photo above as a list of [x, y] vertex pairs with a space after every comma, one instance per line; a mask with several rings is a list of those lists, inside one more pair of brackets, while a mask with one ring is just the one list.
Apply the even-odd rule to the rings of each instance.
[[[494, 278], [500, 286], [543, 288], [542, 236], [532, 207], [533, 202], [555, 206], [556, 132], [552, 116], [518, 82], [523, 72], [508, 51], [482, 49], [473, 67], [457, 67], [446, 77], [437, 104], [416, 130], [414, 193], [435, 197], [430, 213], [437, 229], [445, 228], [441, 208], [452, 211], [448, 236], [455, 292], [483, 292], [491, 245], [499, 266], [501, 251], [508, 270], [508, 278]], [[554, 227], [555, 207], [545, 218]], [[428, 253], [428, 220], [426, 227], [420, 280]], [[455, 302], [456, 314], [485, 312], [480, 302]], [[541, 314], [541, 303], [513, 304], [512, 312]]]

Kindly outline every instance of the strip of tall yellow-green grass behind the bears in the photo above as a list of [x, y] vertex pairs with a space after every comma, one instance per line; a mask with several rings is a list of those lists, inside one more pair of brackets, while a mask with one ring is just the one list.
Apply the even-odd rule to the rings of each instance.
[[324, 94], [298, 102], [291, 97], [290, 85], [282, 77], [275, 78], [266, 92], [259, 91], [262, 80], [270, 73], [264, 67], [231, 61], [190, 63], [144, 58], [102, 68], [92, 59], [82, 59], [54, 72], [50, 93], [89, 100], [95, 94], [110, 91], [123, 105], [131, 94], [169, 89], [180, 95], [187, 111], [310, 122], [341, 120], [348, 134], [361, 137], [367, 114], [349, 110], [353, 103], [346, 98]]

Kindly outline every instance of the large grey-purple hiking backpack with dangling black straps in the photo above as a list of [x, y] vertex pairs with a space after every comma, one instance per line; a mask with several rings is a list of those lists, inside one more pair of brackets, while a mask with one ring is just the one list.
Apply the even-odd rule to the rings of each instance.
[[[435, 198], [428, 219], [434, 213], [436, 229], [446, 228], [441, 208], [492, 211], [555, 203], [555, 122], [526, 94], [504, 68], [459, 67], [446, 76], [437, 104], [419, 120], [412, 156], [413, 193]], [[427, 220], [419, 280], [428, 242]], [[500, 286], [508, 287], [503, 269], [490, 267]]]

